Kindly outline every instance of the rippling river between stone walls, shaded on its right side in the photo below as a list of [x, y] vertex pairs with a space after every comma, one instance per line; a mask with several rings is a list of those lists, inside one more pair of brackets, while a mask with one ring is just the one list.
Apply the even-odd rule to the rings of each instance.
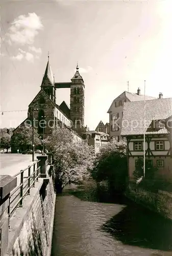
[[172, 222], [95, 187], [65, 187], [57, 196], [52, 256], [171, 256]]

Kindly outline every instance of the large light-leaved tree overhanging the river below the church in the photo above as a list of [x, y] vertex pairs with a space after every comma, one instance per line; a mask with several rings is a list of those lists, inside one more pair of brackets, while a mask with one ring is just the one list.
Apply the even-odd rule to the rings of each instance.
[[85, 141], [77, 141], [73, 132], [56, 127], [44, 142], [47, 150], [53, 153], [57, 192], [61, 192], [68, 182], [79, 183], [90, 177], [93, 148]]

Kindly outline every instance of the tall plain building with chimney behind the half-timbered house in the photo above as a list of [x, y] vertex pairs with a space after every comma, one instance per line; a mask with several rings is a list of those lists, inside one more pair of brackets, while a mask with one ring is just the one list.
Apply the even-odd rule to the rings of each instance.
[[[145, 96], [145, 100], [155, 99], [154, 97]], [[123, 92], [115, 98], [108, 110], [110, 124], [110, 139], [115, 138], [117, 141], [121, 139], [122, 117], [124, 103], [131, 101], [144, 100], [144, 95], [141, 95], [138, 88], [137, 93]]]

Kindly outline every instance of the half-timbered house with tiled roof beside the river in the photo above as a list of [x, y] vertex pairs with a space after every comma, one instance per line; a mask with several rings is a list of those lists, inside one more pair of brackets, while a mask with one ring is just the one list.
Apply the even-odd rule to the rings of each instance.
[[145, 161], [158, 168], [157, 177], [172, 179], [170, 132], [166, 129], [170, 116], [172, 98], [146, 100], [145, 105], [144, 101], [124, 104], [121, 136], [127, 139], [129, 178], [133, 178], [138, 160], [143, 158], [145, 134]]

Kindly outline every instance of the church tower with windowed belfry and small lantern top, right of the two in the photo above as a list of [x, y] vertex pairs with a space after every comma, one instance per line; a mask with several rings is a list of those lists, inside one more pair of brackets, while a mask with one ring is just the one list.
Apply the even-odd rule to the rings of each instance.
[[79, 73], [77, 63], [77, 71], [71, 78], [70, 86], [70, 118], [73, 122], [73, 129], [78, 132], [82, 130], [84, 125], [84, 80]]

